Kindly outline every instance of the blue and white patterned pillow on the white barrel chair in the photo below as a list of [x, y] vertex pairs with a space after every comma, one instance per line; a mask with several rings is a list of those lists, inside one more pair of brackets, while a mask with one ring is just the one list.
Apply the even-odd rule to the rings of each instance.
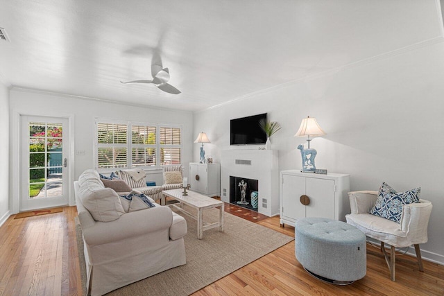
[[400, 223], [402, 206], [419, 202], [420, 193], [420, 187], [405, 192], [396, 192], [395, 189], [384, 182], [379, 188], [375, 206], [368, 213]]

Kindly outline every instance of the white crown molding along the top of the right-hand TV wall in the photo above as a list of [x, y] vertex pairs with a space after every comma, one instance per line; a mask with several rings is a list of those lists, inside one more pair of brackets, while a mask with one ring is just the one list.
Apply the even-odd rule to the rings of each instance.
[[[437, 1], [439, 2], [439, 0], [437, 0]], [[440, 12], [441, 12], [441, 10], [440, 10]], [[440, 19], [441, 19], [441, 24], [442, 24], [442, 22], [443, 22], [442, 17], [440, 17]], [[443, 30], [441, 30], [441, 31], [443, 31]], [[362, 60], [359, 60], [359, 61], [356, 61], [356, 62], [350, 62], [348, 64], [344, 64], [342, 66], [339, 66], [339, 67], [336, 67], [336, 68], [332, 68], [332, 69], [329, 69], [327, 71], [323, 71], [323, 72], [320, 72], [320, 73], [314, 73], [314, 74], [307, 75], [307, 76], [304, 76], [304, 77], [301, 77], [301, 78], [298, 78], [298, 79], [294, 79], [294, 80], [291, 80], [291, 81], [288, 81], [288, 82], [281, 83], [280, 85], [274, 85], [273, 87], [268, 87], [266, 89], [260, 89], [257, 92], [252, 92], [250, 94], [245, 94], [243, 96], [238, 96], [236, 98], [233, 98], [230, 101], [226, 101], [226, 102], [214, 105], [212, 107], [207, 107], [207, 108], [205, 108], [203, 110], [197, 110], [195, 113], [204, 112], [206, 110], [216, 109], [216, 108], [222, 107], [224, 105], [228, 105], [228, 104], [231, 104], [231, 103], [234, 103], [234, 102], [237, 102], [237, 101], [244, 100], [246, 98], [251, 98], [251, 97], [254, 97], [254, 96], [258, 96], [259, 94], [266, 94], [268, 92], [273, 92], [274, 90], [277, 90], [277, 89], [282, 89], [284, 87], [289, 87], [291, 85], [297, 85], [298, 83], [305, 82], [307, 80], [316, 80], [316, 79], [322, 78], [324, 76], [329, 76], [329, 75], [332, 75], [332, 74], [340, 72], [340, 71], [345, 71], [345, 70], [356, 68], [356, 67], [362, 67], [362, 66], [364, 66], [366, 64], [370, 64], [370, 63], [373, 63], [373, 62], [378, 62], [380, 60], [386, 60], [388, 58], [395, 57], [396, 55], [402, 55], [402, 54], [408, 53], [410, 51], [416, 51], [417, 49], [422, 49], [424, 47], [432, 46], [433, 44], [438, 44], [438, 43], [441, 43], [441, 42], [444, 42], [444, 33], [442, 35], [430, 38], [428, 40], [424, 40], [422, 42], [411, 44], [409, 46], [404, 46], [404, 47], [402, 47], [400, 49], [395, 49], [393, 51], [387, 51], [386, 53], [381, 53], [379, 55], [373, 55], [370, 58], [365, 58], [365, 59], [362, 59]]]

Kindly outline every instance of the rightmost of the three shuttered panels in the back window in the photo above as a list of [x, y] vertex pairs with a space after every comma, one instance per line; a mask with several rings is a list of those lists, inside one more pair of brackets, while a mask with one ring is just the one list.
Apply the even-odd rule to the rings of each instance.
[[160, 164], [181, 164], [182, 130], [160, 127]]

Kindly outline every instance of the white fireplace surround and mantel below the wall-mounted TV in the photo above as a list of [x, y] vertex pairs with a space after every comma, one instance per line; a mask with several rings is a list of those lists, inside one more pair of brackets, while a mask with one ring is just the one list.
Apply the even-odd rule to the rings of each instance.
[[230, 202], [230, 176], [258, 180], [259, 207], [266, 216], [279, 214], [278, 150], [222, 150], [221, 200]]

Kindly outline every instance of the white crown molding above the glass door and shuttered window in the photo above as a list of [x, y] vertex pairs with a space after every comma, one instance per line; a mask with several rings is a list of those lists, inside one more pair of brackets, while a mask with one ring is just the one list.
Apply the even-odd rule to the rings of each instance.
[[77, 96], [77, 95], [74, 95], [74, 94], [63, 94], [63, 93], [60, 93], [60, 92], [50, 92], [50, 91], [47, 91], [47, 90], [44, 90], [44, 89], [34, 89], [34, 88], [30, 88], [30, 87], [19, 87], [19, 86], [16, 86], [16, 85], [12, 85], [10, 90], [16, 91], [16, 92], [31, 92], [31, 93], [34, 93], [34, 94], [46, 94], [48, 96], [59, 96], [59, 97], [65, 97], [65, 98], [76, 98], [76, 99], [85, 100], [85, 101], [94, 101], [94, 102], [110, 103], [110, 104], [115, 104], [115, 105], [125, 105], [125, 106], [131, 106], [131, 107], [147, 108], [147, 109], [151, 109], [151, 110], [180, 111], [180, 112], [192, 113], [191, 111], [187, 111], [187, 110], [179, 110], [179, 109], [172, 109], [172, 108], [162, 108], [162, 107], [156, 107], [156, 106], [144, 105], [144, 104], [138, 104], [138, 103], [130, 103], [130, 102], [113, 101], [113, 100], [110, 100], [108, 98], [91, 98], [89, 96]]

